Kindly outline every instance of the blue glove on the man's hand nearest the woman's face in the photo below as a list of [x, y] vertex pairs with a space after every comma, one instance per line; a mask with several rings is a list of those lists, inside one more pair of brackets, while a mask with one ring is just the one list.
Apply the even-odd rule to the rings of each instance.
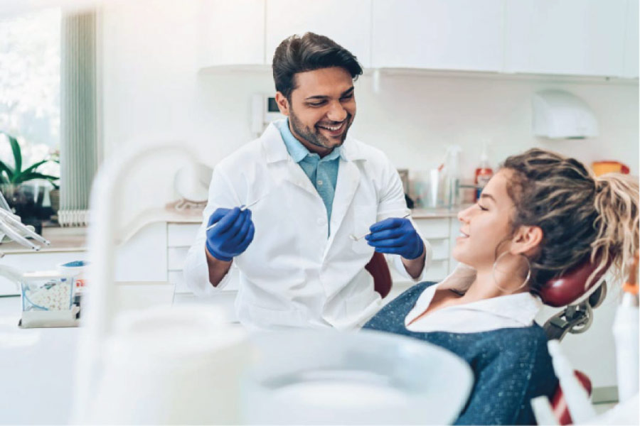
[[411, 260], [425, 251], [425, 244], [409, 219], [390, 217], [371, 225], [369, 231], [365, 239], [380, 253], [399, 254]]

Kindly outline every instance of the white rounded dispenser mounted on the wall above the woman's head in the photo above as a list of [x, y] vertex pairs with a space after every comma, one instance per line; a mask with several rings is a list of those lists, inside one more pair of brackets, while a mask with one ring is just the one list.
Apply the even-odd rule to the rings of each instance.
[[584, 139], [598, 136], [593, 111], [579, 97], [562, 90], [533, 95], [533, 134], [550, 139]]

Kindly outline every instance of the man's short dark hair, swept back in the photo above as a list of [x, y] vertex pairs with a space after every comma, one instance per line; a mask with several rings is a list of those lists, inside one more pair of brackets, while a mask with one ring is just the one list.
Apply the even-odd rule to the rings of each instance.
[[351, 52], [331, 38], [314, 33], [285, 38], [273, 55], [272, 67], [276, 90], [289, 101], [291, 92], [296, 88], [297, 72], [342, 67], [353, 80], [362, 74], [362, 67]]

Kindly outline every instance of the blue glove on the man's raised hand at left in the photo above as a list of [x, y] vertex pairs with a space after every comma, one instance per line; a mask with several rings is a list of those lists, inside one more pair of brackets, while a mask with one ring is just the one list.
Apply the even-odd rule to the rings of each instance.
[[220, 261], [231, 261], [244, 252], [251, 241], [255, 228], [251, 221], [251, 210], [240, 212], [240, 207], [216, 209], [209, 217], [208, 226], [217, 223], [207, 231], [207, 251]]

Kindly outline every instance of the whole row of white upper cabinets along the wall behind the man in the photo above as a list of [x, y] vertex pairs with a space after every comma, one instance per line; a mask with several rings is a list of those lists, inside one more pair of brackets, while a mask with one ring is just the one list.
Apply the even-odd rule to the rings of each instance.
[[638, 77], [639, 0], [201, 0], [202, 67], [312, 31], [364, 67]]

